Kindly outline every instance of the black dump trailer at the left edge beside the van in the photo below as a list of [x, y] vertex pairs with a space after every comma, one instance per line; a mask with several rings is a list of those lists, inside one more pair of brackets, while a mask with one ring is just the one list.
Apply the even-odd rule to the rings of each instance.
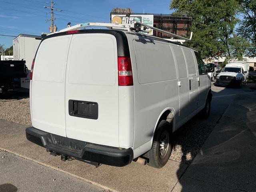
[[15, 78], [24, 78], [28, 75], [26, 61], [0, 60], [0, 94], [14, 90]]

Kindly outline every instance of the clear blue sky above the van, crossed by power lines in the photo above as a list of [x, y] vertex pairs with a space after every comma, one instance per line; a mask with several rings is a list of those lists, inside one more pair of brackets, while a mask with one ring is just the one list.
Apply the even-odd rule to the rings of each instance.
[[[50, 0], [0, 0], [0, 34], [18, 36], [18, 34], [40, 35], [48, 32], [50, 10], [44, 6]], [[170, 0], [54, 0], [55, 24], [58, 30], [66, 28], [67, 23], [75, 25], [83, 22], [110, 22], [113, 8], [131, 8], [134, 13], [170, 14]], [[14, 37], [0, 36], [4, 48], [12, 46]]]

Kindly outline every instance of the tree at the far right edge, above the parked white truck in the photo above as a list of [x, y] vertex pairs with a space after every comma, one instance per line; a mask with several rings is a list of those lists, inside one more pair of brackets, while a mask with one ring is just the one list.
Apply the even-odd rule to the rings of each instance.
[[246, 48], [248, 56], [256, 56], [256, 0], [242, 0], [243, 20], [237, 29], [238, 36], [246, 39], [250, 46]]

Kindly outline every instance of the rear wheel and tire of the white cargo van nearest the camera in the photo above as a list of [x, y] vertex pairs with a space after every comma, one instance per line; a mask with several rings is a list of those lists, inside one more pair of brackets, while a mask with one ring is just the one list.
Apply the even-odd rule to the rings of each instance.
[[168, 121], [162, 120], [158, 124], [152, 148], [144, 154], [144, 157], [148, 159], [149, 166], [162, 168], [168, 162], [172, 152], [170, 130], [171, 126]]

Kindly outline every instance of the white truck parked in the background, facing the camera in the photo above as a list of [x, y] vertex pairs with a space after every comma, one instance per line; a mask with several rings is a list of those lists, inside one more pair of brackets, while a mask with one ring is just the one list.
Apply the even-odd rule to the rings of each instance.
[[249, 64], [243, 61], [230, 62], [216, 77], [216, 85], [236, 85], [241, 88], [242, 83], [247, 84]]

